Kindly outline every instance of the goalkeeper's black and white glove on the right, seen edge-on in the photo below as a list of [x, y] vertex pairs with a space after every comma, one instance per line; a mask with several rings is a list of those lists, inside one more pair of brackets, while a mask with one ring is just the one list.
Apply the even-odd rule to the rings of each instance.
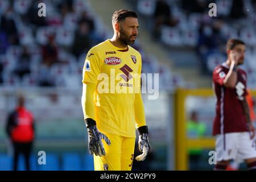
[[135, 159], [138, 161], [143, 161], [146, 159], [148, 152], [150, 152], [147, 126], [138, 127], [137, 131], [139, 134], [139, 151], [141, 151], [142, 154], [138, 155]]

